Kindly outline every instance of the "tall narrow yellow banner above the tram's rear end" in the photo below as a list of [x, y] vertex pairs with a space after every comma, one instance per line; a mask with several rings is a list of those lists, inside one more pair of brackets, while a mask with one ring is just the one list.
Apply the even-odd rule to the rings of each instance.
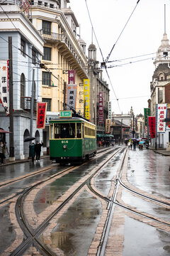
[[85, 117], [90, 119], [90, 80], [84, 79]]

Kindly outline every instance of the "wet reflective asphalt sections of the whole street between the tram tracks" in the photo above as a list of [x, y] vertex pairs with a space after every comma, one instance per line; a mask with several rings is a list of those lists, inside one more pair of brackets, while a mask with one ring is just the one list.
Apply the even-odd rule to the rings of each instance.
[[[108, 166], [106, 166], [95, 178], [96, 188], [106, 196], [111, 188], [111, 179], [115, 175], [121, 156], [122, 153], [113, 158]], [[102, 156], [98, 160], [91, 161], [91, 163], [87, 165], [88, 168], [92, 169], [104, 157], [105, 156]], [[36, 171], [49, 164], [50, 160], [41, 159], [40, 165], [33, 165], [31, 162], [26, 162], [23, 164], [0, 167], [1, 182], [28, 174], [30, 171]], [[160, 198], [170, 200], [169, 164], [169, 156], [155, 154], [152, 150], [129, 150], [128, 181], [142, 191], [147, 191], [151, 196], [153, 194]], [[84, 168], [81, 169], [81, 176], [86, 175], [87, 166], [84, 166]], [[17, 191], [18, 188], [26, 188], [36, 180], [38, 181], [41, 178], [45, 178], [45, 176], [55, 174], [56, 171], [59, 171], [61, 168], [63, 167], [55, 166], [54, 169], [50, 170], [50, 173], [46, 172], [40, 174], [36, 176], [36, 178], [30, 177], [27, 181], [18, 181], [12, 186], [4, 188], [4, 190], [0, 188], [0, 197], [2, 199], [9, 193]], [[39, 214], [42, 210], [45, 210], [52, 201], [59, 198], [64, 191], [67, 191], [67, 188], [77, 181], [79, 175], [79, 170], [74, 171], [72, 176], [68, 175], [67, 177], [64, 177], [62, 183], [57, 184], [58, 181], [55, 181], [54, 183], [51, 183], [50, 186], [39, 191], [34, 201], [35, 212]], [[42, 198], [45, 200], [42, 201]], [[155, 206], [153, 203], [146, 202], [142, 199], [138, 200], [127, 191], [123, 191], [122, 199], [125, 203], [128, 203], [139, 210], [157, 215], [159, 218], [169, 221], [169, 211], [164, 210], [164, 208], [160, 206]], [[2, 217], [0, 220], [0, 253], [3, 252], [16, 238], [14, 227], [11, 225], [11, 220], [9, 218], [8, 209], [9, 204], [0, 208], [0, 215]], [[77, 198], [77, 201], [75, 201], [64, 215], [62, 215], [56, 228], [52, 230], [51, 237], [53, 247], [60, 247], [65, 255], [86, 256], [88, 252], [87, 248], [94, 236], [100, 217], [101, 202], [87, 193], [87, 191], [84, 191], [79, 198]], [[125, 217], [124, 230], [123, 256], [170, 255], [169, 233], [165, 233], [162, 230], [158, 230], [147, 224], [140, 223], [128, 216]], [[84, 239], [86, 240], [85, 243], [79, 240], [79, 234], [82, 232]], [[63, 238], [65, 239], [60, 243], [59, 241]]]

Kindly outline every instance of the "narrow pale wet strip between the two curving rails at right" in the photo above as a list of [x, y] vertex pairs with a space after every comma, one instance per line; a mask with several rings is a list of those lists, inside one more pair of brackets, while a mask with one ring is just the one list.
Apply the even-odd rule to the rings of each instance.
[[154, 203], [147, 202], [142, 198], [132, 196], [128, 191], [123, 190], [122, 200], [129, 206], [137, 208], [142, 212], [162, 218], [162, 220], [170, 221], [169, 209], [158, 206]]

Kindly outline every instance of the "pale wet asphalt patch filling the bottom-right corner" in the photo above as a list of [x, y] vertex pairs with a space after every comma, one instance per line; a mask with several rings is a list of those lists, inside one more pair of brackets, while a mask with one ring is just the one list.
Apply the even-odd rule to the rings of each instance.
[[170, 234], [125, 216], [123, 256], [168, 256]]

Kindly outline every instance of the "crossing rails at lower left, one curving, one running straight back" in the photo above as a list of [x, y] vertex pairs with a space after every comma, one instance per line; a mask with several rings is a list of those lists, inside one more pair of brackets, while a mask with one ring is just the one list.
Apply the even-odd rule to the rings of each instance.
[[21, 253], [23, 253], [24, 251], [27, 250], [27, 248], [30, 246], [30, 244], [33, 244], [33, 245], [35, 245], [35, 247], [38, 247], [38, 250], [41, 250], [43, 253], [45, 253], [45, 255], [53, 255], [52, 252], [49, 252], [49, 249], [45, 245], [42, 245], [42, 242], [40, 242], [40, 240], [38, 239], [38, 236], [43, 232], [43, 230], [45, 230], [45, 228], [47, 228], [47, 225], [50, 223], [50, 220], [52, 220], [52, 218], [74, 197], [74, 195], [77, 194], [77, 192], [83, 186], [86, 185], [87, 181], [90, 178], [92, 178], [92, 176], [94, 176], [98, 171], [100, 171], [101, 168], [103, 168], [103, 166], [105, 166], [108, 163], [108, 161], [110, 161], [110, 159], [113, 158], [113, 156], [118, 153], [118, 151], [120, 151], [120, 148], [117, 150], [115, 149], [113, 154], [111, 154], [111, 156], [109, 156], [108, 159], [103, 161], [103, 164], [101, 164], [100, 166], [97, 166], [96, 171], [94, 171], [94, 173], [91, 174], [91, 176], [89, 176], [89, 178], [87, 178], [86, 181], [81, 183], [81, 185], [74, 191], [74, 193], [70, 194], [67, 197], [67, 199], [65, 201], [63, 201], [60, 204], [60, 206], [58, 208], [56, 208], [55, 211], [53, 211], [42, 222], [42, 224], [39, 225], [38, 228], [36, 228], [35, 230], [32, 230], [32, 228], [28, 225], [25, 213], [23, 212], [23, 202], [24, 202], [26, 196], [28, 196], [30, 191], [33, 189], [33, 187], [28, 188], [27, 191], [22, 193], [16, 203], [16, 216], [17, 216], [18, 223], [21, 226], [21, 229], [23, 230], [24, 235], [26, 236], [26, 240], [19, 247], [17, 247], [16, 250], [14, 250], [11, 253], [11, 255], [21, 255]]

